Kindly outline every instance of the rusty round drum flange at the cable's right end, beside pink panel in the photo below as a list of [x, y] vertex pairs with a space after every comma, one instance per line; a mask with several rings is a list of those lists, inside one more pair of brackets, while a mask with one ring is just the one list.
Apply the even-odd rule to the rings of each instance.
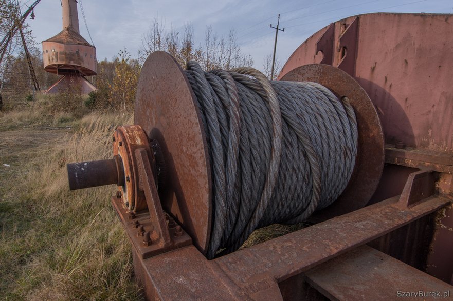
[[370, 97], [354, 78], [330, 65], [300, 66], [286, 73], [281, 80], [315, 82], [337, 97], [347, 96], [357, 117], [358, 154], [348, 186], [335, 203], [316, 212], [310, 219], [325, 220], [364, 207], [379, 183], [385, 154], [382, 127]]

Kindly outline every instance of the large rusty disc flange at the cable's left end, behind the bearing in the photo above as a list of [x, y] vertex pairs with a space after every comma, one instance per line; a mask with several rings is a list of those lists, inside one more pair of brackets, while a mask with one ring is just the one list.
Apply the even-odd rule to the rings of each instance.
[[166, 52], [152, 53], [141, 69], [134, 123], [162, 148], [169, 182], [159, 190], [162, 207], [206, 253], [212, 211], [206, 137], [192, 88]]

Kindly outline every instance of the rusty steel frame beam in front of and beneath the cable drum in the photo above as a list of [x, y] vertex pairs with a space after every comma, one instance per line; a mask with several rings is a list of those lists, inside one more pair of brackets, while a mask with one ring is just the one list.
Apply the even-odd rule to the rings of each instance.
[[[431, 171], [414, 172], [400, 196], [213, 260], [192, 245], [171, 252], [161, 248], [160, 254], [154, 250], [147, 258], [143, 249], [149, 247], [131, 230], [135, 218], [146, 220], [147, 213], [131, 218], [118, 206], [122, 202], [112, 202], [133, 245], [135, 273], [148, 299], [278, 300], [279, 283], [450, 204], [451, 196], [432, 195], [434, 179]], [[159, 204], [157, 190], [153, 199]]]

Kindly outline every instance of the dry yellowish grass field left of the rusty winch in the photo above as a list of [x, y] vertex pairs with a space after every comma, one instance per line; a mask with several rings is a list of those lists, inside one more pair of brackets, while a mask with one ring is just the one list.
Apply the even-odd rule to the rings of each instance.
[[[113, 130], [131, 116], [76, 119], [39, 106], [0, 115], [2, 299], [140, 299], [114, 187], [70, 192], [65, 166], [110, 157]], [[51, 125], [71, 130], [37, 129]]]

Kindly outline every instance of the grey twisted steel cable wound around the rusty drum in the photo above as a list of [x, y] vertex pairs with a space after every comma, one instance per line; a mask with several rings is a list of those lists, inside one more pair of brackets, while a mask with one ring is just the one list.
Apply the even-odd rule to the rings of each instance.
[[347, 97], [252, 68], [204, 72], [192, 61], [186, 75], [212, 170], [208, 258], [239, 248], [256, 228], [302, 222], [345, 189], [358, 136]]

